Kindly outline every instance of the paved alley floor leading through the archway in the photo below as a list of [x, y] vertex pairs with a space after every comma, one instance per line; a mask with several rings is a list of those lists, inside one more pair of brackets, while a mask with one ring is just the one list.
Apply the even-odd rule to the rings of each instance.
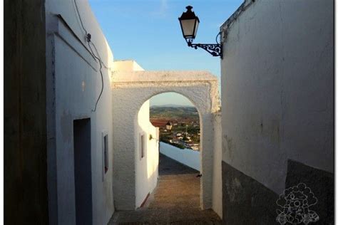
[[111, 224], [221, 224], [211, 209], [200, 209], [198, 171], [160, 154], [158, 187], [135, 211], [116, 211]]

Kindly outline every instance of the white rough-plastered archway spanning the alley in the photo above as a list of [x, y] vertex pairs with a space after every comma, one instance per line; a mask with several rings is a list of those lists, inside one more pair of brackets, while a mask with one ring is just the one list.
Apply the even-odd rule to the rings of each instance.
[[134, 122], [143, 103], [160, 93], [188, 98], [200, 114], [200, 206], [212, 206], [213, 113], [220, 109], [217, 78], [205, 71], [113, 73], [113, 194], [116, 209], [135, 209]]

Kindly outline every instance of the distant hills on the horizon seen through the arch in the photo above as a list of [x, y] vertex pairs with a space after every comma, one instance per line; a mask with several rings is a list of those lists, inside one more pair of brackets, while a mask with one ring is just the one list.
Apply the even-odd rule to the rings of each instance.
[[170, 106], [157, 105], [150, 107], [151, 118], [175, 118], [175, 119], [193, 119], [198, 120], [198, 110], [193, 106]]

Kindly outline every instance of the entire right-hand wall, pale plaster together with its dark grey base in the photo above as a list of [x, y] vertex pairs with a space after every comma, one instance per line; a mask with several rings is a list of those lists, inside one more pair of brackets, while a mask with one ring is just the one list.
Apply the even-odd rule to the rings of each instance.
[[225, 224], [282, 223], [277, 199], [301, 183], [318, 199], [311, 221], [334, 223], [333, 9], [247, 0], [222, 25]]

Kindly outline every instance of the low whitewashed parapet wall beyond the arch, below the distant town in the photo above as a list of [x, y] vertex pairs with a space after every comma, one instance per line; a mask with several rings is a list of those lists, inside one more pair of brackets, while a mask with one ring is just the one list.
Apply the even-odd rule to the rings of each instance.
[[160, 142], [160, 153], [176, 161], [200, 171], [200, 152], [190, 149], [180, 149], [173, 145]]

